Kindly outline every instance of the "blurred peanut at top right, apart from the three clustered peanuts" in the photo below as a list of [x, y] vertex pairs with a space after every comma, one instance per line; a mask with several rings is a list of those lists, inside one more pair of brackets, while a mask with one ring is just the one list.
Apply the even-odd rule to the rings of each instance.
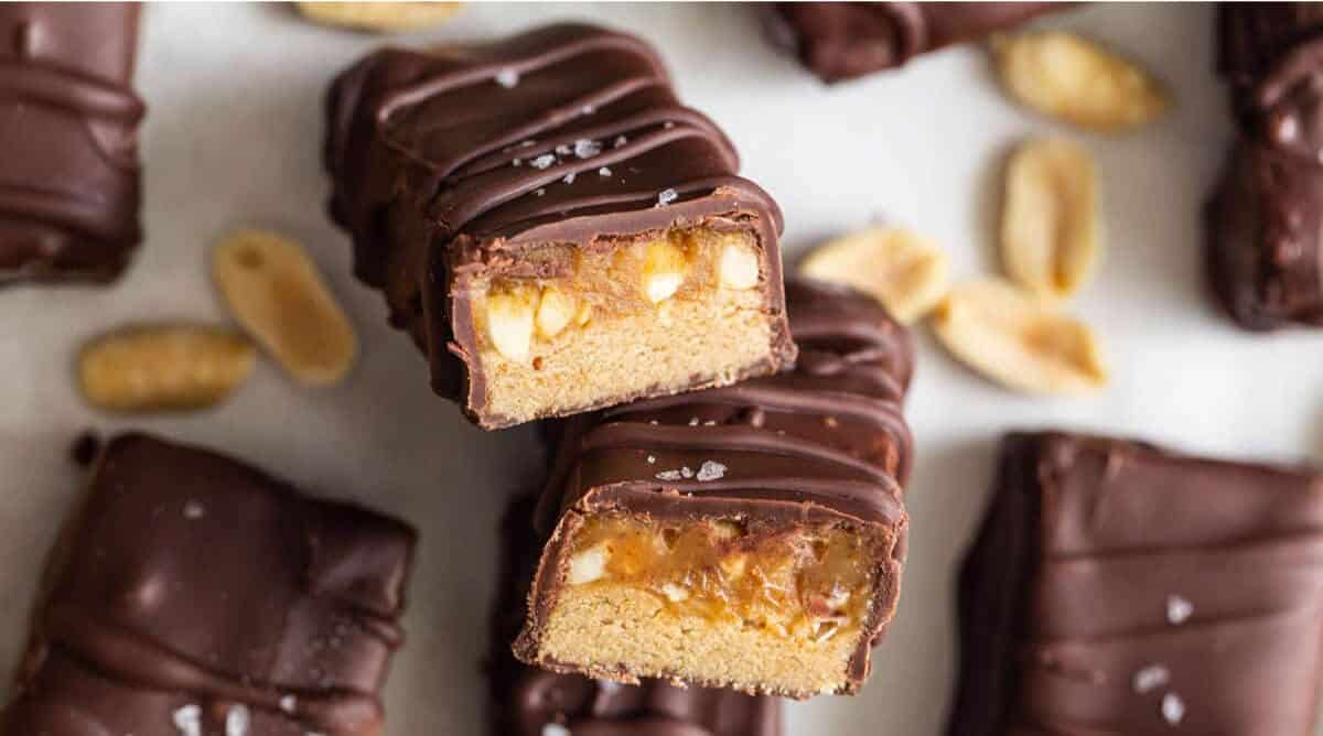
[[1002, 86], [1044, 115], [1119, 132], [1150, 123], [1170, 104], [1166, 87], [1134, 62], [1073, 33], [1024, 33], [992, 42]]

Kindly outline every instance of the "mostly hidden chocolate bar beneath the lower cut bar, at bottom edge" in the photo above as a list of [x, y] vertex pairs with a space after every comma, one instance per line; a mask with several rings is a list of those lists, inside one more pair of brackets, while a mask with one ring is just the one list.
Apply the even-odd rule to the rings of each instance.
[[778, 736], [781, 703], [732, 690], [639, 686], [521, 665], [509, 650], [528, 609], [541, 544], [531, 523], [536, 498], [515, 499], [501, 525], [501, 585], [487, 663], [493, 736]]

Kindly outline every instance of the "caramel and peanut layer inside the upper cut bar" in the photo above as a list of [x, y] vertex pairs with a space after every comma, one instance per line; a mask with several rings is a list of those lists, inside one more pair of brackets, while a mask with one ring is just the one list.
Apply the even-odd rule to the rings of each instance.
[[578, 248], [573, 260], [572, 272], [554, 279], [492, 279], [474, 305], [480, 349], [523, 363], [537, 342], [594, 321], [638, 314], [667, 320], [676, 301], [710, 300], [720, 289], [759, 283], [753, 237], [742, 231], [671, 230], [617, 248]]

